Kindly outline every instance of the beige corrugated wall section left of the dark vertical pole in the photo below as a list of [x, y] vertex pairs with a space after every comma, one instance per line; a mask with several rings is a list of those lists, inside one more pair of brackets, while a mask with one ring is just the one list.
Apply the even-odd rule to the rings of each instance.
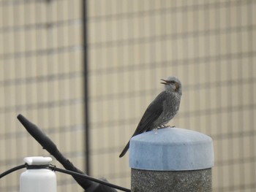
[[[81, 12], [80, 1], [0, 1], [0, 172], [26, 156], [48, 155], [18, 122], [19, 113], [83, 169]], [[0, 191], [18, 191], [19, 174], [1, 179]], [[80, 189], [72, 177], [57, 176], [59, 191]]]

